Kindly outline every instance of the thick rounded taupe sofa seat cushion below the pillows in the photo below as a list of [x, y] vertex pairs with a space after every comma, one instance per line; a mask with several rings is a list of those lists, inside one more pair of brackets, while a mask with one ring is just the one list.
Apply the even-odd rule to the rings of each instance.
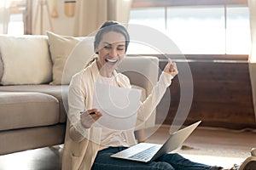
[[41, 93], [0, 92], [0, 131], [59, 122], [55, 97]]

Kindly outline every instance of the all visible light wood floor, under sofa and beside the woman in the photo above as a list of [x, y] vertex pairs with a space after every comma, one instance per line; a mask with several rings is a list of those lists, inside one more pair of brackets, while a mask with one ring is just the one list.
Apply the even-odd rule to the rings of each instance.
[[[146, 141], [162, 144], [168, 137], [169, 128], [162, 126], [158, 130], [154, 129], [156, 133]], [[0, 170], [60, 170], [61, 146], [0, 156]], [[253, 130], [230, 131], [198, 127], [177, 152], [192, 161], [231, 167], [250, 156], [253, 147], [256, 147], [256, 133]]]

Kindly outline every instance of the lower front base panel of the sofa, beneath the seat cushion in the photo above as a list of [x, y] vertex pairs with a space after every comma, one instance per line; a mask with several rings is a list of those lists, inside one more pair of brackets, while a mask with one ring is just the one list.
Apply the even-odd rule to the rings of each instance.
[[[57, 124], [54, 126], [32, 127], [2, 131], [0, 135], [0, 156], [14, 153], [17, 151], [32, 150], [57, 144], [63, 144], [65, 139], [65, 129], [65, 124]], [[37, 158], [38, 157], [36, 157], [36, 159]], [[39, 161], [38, 163], [41, 162]], [[18, 168], [11, 167], [12, 166], [10, 166], [9, 169]], [[24, 169], [22, 167], [19, 169]]]

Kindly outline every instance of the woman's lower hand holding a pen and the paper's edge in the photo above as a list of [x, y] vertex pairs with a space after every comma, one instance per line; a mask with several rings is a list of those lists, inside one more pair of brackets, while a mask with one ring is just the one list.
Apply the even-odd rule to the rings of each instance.
[[80, 115], [80, 121], [84, 128], [90, 128], [91, 125], [96, 122], [102, 116], [102, 112], [96, 109], [88, 111], [82, 111]]

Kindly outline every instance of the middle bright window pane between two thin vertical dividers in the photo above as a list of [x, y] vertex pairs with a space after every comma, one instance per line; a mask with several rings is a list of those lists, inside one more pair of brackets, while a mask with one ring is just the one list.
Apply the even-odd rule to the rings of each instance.
[[183, 54], [224, 54], [223, 16], [219, 7], [167, 8], [167, 35]]

